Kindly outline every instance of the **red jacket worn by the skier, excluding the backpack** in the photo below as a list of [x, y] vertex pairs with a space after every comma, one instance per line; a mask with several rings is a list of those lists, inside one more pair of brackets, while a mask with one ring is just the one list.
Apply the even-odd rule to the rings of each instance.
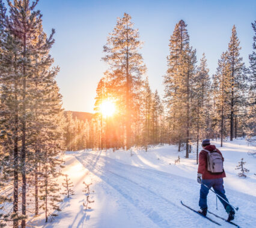
[[[213, 151], [216, 149], [215, 145], [207, 145], [206, 150]], [[219, 154], [221, 154], [221, 151], [216, 149]], [[199, 165], [198, 165], [198, 173], [203, 174], [202, 179], [215, 179], [215, 178], [224, 178], [226, 177], [225, 171], [223, 171], [221, 174], [213, 174], [212, 172], [207, 171], [207, 152], [204, 150], [201, 150], [199, 153]], [[224, 161], [224, 157], [222, 156], [222, 160]]]

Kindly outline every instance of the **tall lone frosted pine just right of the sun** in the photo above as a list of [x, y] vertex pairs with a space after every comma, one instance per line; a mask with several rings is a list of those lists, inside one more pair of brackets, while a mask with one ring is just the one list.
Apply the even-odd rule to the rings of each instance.
[[145, 65], [139, 47], [142, 42], [138, 40], [138, 29], [133, 29], [132, 17], [124, 13], [123, 18], [117, 19], [114, 31], [107, 38], [107, 44], [103, 47], [112, 72], [112, 77], [118, 75], [118, 81], [125, 89], [125, 115], [126, 115], [126, 149], [131, 146], [132, 110], [134, 110], [134, 93], [136, 84], [141, 83], [141, 75], [145, 72]]

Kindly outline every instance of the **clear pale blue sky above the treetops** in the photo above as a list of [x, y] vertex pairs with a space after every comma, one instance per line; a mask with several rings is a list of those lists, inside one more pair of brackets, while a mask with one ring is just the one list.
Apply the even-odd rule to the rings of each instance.
[[107, 66], [102, 62], [103, 45], [124, 12], [132, 16], [139, 29], [141, 49], [152, 90], [163, 95], [169, 37], [175, 24], [187, 23], [190, 44], [197, 49], [198, 62], [206, 53], [210, 75], [216, 71], [222, 51], [227, 50], [233, 25], [242, 46], [241, 55], [248, 66], [252, 51], [251, 22], [256, 20], [255, 0], [202, 1], [97, 1], [40, 0], [44, 31], [56, 29], [51, 54], [61, 71], [56, 80], [63, 95], [64, 108], [93, 111], [96, 87]]

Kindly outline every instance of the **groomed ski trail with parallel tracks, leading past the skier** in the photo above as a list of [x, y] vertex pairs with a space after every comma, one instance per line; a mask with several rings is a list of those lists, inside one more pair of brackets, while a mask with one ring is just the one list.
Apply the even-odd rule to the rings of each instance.
[[[144, 220], [141, 216], [134, 217], [137, 211], [143, 217], [153, 222], [152, 224], [155, 227], [217, 226], [180, 204], [180, 200], [182, 199], [187, 205], [195, 209], [198, 208], [200, 186], [193, 180], [154, 169], [125, 165], [109, 157], [102, 156], [100, 151], [78, 154], [76, 158], [85, 168], [113, 188], [112, 191], [108, 191], [106, 194], [111, 194], [112, 196], [121, 194], [127, 200], [127, 205], [123, 205], [124, 207], [127, 207], [128, 210], [130, 209], [130, 204], [135, 207], [136, 212], [133, 214], [129, 213], [129, 215], [133, 216], [130, 219], [136, 219], [138, 221], [138, 227], [145, 226], [141, 224], [141, 220]], [[255, 209], [255, 197], [246, 196], [246, 194], [228, 190], [228, 199], [230, 199], [230, 202], [241, 202], [240, 205], [243, 205], [245, 211], [250, 211], [248, 208]], [[237, 200], [237, 198], [240, 200]], [[208, 200], [209, 204], [215, 205], [215, 197], [210, 196], [210, 193]], [[221, 211], [219, 215], [227, 217], [221, 203], [219, 202], [218, 204], [219, 211]], [[209, 209], [213, 211], [213, 209]], [[255, 213], [251, 215], [243, 214], [243, 216], [239, 215], [240, 213], [237, 214], [237, 218], [239, 218], [237, 221], [239, 221], [241, 227], [255, 226], [255, 217], [252, 217], [252, 214]], [[215, 217], [210, 215], [209, 217], [216, 220]], [[233, 227], [231, 224], [219, 221], [218, 219], [216, 221], [222, 223], [222, 226]]]

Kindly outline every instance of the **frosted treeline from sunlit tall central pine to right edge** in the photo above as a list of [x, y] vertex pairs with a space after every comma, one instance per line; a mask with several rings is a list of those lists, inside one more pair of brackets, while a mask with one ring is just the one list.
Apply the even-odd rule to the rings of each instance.
[[[160, 99], [145, 77], [138, 29], [129, 14], [118, 18], [103, 47], [109, 69], [97, 86], [94, 147], [147, 150], [148, 145], [171, 143], [179, 151], [184, 146], [189, 157], [192, 144], [198, 148], [203, 138], [220, 138], [222, 145], [227, 137], [232, 141], [255, 135], [255, 36], [251, 66], [246, 68], [233, 26], [227, 50], [211, 76], [205, 54], [197, 63], [186, 27], [180, 20], [169, 39], [165, 95]], [[252, 28], [255, 31], [255, 22]], [[117, 107], [114, 115], [102, 114], [100, 106], [106, 101]]]

